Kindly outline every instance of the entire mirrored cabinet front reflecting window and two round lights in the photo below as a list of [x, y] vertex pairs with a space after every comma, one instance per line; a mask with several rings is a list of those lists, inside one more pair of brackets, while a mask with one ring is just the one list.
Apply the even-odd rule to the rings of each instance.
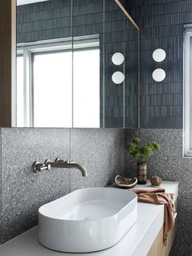
[[125, 2], [17, 0], [15, 126], [137, 127], [139, 29]]

